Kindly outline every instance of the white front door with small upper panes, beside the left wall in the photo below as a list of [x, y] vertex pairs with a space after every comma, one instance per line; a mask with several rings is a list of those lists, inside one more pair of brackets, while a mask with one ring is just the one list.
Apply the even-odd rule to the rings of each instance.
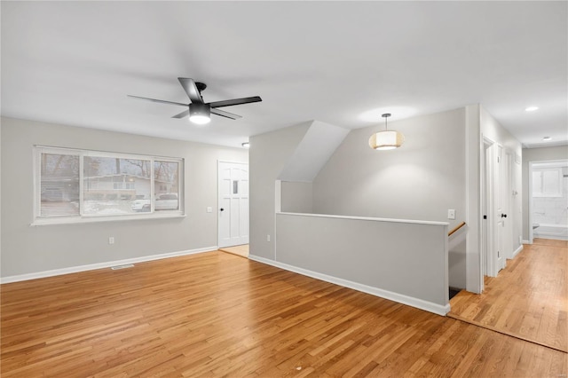
[[248, 244], [248, 164], [218, 162], [218, 247]]

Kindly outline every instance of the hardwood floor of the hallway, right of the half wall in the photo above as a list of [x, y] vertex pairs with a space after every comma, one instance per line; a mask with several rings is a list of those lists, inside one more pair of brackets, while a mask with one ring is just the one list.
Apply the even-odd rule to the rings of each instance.
[[485, 277], [485, 291], [461, 291], [449, 316], [568, 351], [568, 246], [535, 239], [498, 277]]

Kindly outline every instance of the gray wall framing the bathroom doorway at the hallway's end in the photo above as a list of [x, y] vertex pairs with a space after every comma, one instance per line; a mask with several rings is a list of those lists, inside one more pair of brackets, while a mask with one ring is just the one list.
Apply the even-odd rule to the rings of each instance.
[[529, 162], [568, 159], [568, 146], [523, 149], [523, 240], [529, 240]]

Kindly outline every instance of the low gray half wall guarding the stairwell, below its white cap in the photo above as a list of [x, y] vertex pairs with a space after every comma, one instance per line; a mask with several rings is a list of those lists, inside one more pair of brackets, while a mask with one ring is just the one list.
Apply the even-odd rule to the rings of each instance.
[[386, 290], [390, 299], [446, 314], [446, 224], [277, 214], [276, 226], [278, 262]]

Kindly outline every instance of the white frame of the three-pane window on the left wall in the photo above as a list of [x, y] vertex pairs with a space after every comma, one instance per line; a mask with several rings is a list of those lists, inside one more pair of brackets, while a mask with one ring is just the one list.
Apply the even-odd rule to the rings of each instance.
[[[57, 215], [57, 216], [43, 216], [41, 215], [41, 201], [42, 201], [42, 169], [41, 159], [42, 154], [67, 154], [79, 156], [79, 215]], [[150, 161], [150, 212], [131, 213], [127, 215], [113, 214], [113, 215], [99, 215], [99, 214], [83, 214], [84, 211], [84, 157], [107, 157], [119, 159], [132, 159]], [[154, 209], [154, 161], [167, 161], [176, 162], [178, 187], [177, 187], [177, 210], [159, 210]], [[185, 196], [184, 196], [184, 171], [185, 161], [183, 158], [154, 156], [143, 154], [124, 154], [113, 153], [105, 151], [83, 150], [65, 147], [53, 146], [34, 146], [34, 217], [31, 225], [41, 224], [73, 224], [73, 223], [89, 223], [89, 222], [107, 222], [107, 221], [129, 221], [138, 219], [156, 219], [156, 218], [172, 218], [172, 217], [185, 217]]]

